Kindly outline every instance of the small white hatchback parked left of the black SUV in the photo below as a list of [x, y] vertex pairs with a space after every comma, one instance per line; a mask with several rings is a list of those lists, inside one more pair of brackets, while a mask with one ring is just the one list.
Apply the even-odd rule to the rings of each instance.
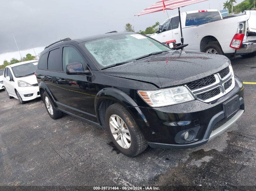
[[40, 97], [35, 76], [37, 62], [37, 60], [30, 60], [5, 67], [4, 88], [10, 99], [15, 97], [24, 104], [25, 101]]

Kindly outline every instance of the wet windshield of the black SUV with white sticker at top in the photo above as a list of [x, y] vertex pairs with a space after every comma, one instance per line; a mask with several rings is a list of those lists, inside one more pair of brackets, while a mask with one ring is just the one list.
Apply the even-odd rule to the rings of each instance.
[[163, 44], [141, 34], [122, 34], [82, 43], [82, 47], [105, 68], [135, 60], [150, 53], [170, 51]]

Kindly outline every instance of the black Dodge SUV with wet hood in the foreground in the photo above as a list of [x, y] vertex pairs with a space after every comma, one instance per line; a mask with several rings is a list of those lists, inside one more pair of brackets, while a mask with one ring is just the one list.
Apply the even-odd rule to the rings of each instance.
[[244, 113], [243, 83], [227, 57], [173, 50], [138, 33], [53, 43], [36, 76], [52, 119], [68, 113], [100, 126], [128, 156], [148, 145], [203, 145]]

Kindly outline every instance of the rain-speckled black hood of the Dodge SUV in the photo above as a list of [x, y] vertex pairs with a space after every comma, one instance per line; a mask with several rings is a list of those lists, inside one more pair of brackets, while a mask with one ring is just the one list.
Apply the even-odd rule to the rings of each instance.
[[226, 56], [172, 51], [103, 70], [106, 75], [128, 78], [165, 88], [214, 74], [230, 64]]

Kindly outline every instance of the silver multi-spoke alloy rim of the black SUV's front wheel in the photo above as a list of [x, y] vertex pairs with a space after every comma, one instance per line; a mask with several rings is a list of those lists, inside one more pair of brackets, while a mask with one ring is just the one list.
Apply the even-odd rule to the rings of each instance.
[[118, 115], [111, 115], [109, 118], [109, 126], [118, 145], [125, 149], [130, 148], [131, 135], [123, 119]]

